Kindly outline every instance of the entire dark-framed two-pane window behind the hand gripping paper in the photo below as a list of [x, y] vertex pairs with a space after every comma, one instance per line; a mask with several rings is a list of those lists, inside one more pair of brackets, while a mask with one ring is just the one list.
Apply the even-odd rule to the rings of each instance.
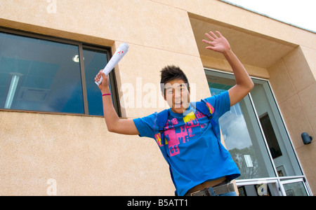
[[[94, 78], [109, 50], [11, 32], [0, 31], [0, 109], [103, 116]], [[114, 72], [110, 80], [119, 113]]]

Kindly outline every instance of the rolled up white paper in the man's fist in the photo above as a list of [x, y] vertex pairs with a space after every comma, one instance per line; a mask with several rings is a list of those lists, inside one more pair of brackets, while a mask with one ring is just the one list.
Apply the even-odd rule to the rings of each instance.
[[[122, 43], [121, 45], [119, 45], [119, 48], [103, 69], [103, 73], [105, 73], [105, 75], [107, 76], [112, 71], [112, 69], [114, 69], [114, 66], [116, 66], [119, 63], [119, 61], [124, 57], [124, 55], [126, 55], [127, 52], [129, 52], [129, 45], [127, 43]], [[102, 80], [103, 77], [101, 77], [99, 82], [96, 82], [96, 84], [100, 85], [102, 83]]]

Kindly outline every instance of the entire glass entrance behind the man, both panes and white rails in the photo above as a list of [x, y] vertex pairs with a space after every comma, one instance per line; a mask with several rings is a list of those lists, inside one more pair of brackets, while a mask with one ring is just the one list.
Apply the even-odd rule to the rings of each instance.
[[[235, 85], [232, 73], [208, 69], [205, 72], [212, 95]], [[242, 174], [236, 180], [241, 193], [286, 195], [288, 188], [301, 185], [289, 180], [303, 179], [304, 175], [268, 80], [252, 79], [254, 89], [219, 119], [220, 129], [225, 146]], [[287, 183], [282, 184], [284, 179]], [[303, 184], [308, 188], [307, 183]], [[283, 186], [283, 192], [279, 186]]]

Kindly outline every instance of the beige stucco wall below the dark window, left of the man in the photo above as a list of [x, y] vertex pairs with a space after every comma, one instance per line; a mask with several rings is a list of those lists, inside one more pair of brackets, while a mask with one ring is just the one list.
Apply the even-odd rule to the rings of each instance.
[[0, 123], [0, 195], [48, 195], [50, 179], [57, 195], [173, 195], [156, 143], [103, 118], [0, 111]]

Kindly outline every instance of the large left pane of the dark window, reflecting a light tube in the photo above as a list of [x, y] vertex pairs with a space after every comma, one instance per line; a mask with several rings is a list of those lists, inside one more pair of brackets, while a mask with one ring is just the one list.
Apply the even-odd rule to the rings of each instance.
[[0, 34], [1, 109], [84, 113], [77, 45]]

